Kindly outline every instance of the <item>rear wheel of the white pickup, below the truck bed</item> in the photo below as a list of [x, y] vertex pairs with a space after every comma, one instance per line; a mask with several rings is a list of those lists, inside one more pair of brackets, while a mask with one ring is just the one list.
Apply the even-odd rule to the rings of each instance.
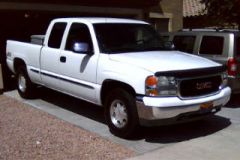
[[26, 67], [20, 66], [17, 70], [17, 90], [22, 98], [32, 99], [35, 97], [36, 86], [27, 74]]

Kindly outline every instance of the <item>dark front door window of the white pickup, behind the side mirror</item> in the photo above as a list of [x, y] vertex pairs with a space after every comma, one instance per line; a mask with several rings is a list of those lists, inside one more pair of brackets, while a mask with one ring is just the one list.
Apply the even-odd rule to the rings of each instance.
[[90, 50], [92, 50], [92, 39], [88, 27], [85, 24], [73, 23], [68, 33], [66, 50], [72, 51], [75, 42], [88, 43]]

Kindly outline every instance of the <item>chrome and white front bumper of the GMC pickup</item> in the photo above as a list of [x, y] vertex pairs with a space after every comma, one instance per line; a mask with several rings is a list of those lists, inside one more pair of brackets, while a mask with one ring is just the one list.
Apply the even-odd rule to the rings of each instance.
[[[176, 119], [181, 115], [203, 115], [201, 105], [211, 102], [213, 106], [211, 109], [204, 111], [204, 113], [216, 113], [224, 106], [231, 96], [231, 89], [226, 87], [219, 93], [211, 96], [180, 99], [179, 97], [137, 97], [137, 111], [140, 124], [144, 126], [156, 125], [151, 121]], [[161, 121], [159, 121], [160, 123]]]

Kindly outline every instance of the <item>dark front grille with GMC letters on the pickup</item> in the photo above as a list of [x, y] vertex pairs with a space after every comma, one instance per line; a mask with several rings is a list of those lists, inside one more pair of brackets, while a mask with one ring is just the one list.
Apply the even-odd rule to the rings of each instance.
[[187, 79], [180, 82], [180, 96], [183, 98], [198, 97], [216, 93], [222, 83], [220, 75]]

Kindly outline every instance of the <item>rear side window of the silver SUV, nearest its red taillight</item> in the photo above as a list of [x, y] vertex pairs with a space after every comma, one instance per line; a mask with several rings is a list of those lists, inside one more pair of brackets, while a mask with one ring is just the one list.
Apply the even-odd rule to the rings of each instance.
[[200, 46], [200, 54], [221, 55], [224, 38], [217, 36], [204, 36]]

